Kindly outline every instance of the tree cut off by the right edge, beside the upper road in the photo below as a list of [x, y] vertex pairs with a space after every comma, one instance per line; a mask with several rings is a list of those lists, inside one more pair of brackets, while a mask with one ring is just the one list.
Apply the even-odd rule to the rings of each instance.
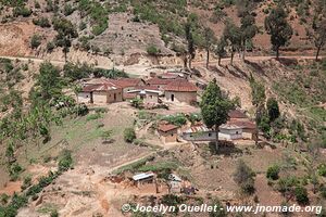
[[317, 49], [316, 61], [318, 61], [321, 49], [326, 43], [326, 18], [323, 18], [321, 22], [314, 22], [314, 43]]

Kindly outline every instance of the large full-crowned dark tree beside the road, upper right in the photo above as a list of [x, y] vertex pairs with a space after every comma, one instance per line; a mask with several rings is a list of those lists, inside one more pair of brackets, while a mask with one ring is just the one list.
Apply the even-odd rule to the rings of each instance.
[[293, 35], [292, 27], [287, 22], [288, 14], [278, 5], [273, 9], [265, 18], [265, 29], [271, 35], [273, 50], [276, 51], [276, 59], [279, 58], [279, 48], [286, 46]]

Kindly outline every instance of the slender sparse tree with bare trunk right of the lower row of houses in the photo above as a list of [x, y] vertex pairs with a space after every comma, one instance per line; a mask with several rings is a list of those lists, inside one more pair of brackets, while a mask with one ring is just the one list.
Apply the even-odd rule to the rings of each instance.
[[250, 76], [252, 104], [255, 106], [255, 145], [259, 141], [259, 120], [261, 118], [262, 108], [265, 104], [265, 87], [258, 82], [253, 76]]

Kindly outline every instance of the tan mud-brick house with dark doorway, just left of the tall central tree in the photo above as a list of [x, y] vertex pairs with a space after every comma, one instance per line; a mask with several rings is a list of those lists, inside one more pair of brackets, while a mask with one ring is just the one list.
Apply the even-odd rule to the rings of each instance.
[[164, 88], [165, 100], [170, 102], [197, 102], [197, 87], [186, 79], [175, 79]]

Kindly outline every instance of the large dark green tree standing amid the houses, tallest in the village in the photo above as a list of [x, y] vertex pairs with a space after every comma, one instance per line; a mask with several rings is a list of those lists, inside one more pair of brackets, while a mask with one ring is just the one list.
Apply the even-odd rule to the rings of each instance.
[[233, 102], [222, 93], [216, 84], [216, 79], [212, 80], [205, 89], [202, 101], [200, 103], [203, 122], [209, 128], [215, 129], [216, 152], [218, 150], [218, 131], [220, 126], [225, 124], [228, 119], [228, 112], [234, 107]]

